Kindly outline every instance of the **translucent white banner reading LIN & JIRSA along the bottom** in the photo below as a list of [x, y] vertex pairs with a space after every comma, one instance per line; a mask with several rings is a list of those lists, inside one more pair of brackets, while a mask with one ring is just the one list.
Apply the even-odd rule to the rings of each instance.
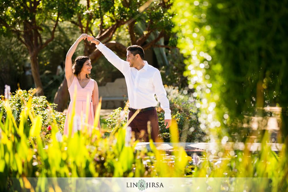
[[[14, 189], [28, 186], [35, 191], [98, 192], [190, 192], [263, 191], [279, 178], [10, 178]], [[29, 181], [29, 183], [28, 183]], [[273, 182], [272, 182], [273, 181]], [[28, 184], [28, 185], [27, 185]], [[21, 187], [22, 186], [22, 187]], [[262, 190], [263, 189], [263, 190]]]

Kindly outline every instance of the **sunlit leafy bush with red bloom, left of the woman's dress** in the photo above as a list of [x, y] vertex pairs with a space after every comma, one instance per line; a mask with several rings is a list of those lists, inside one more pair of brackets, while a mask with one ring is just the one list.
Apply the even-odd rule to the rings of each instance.
[[[24, 110], [24, 108], [27, 106], [29, 99], [31, 99], [31, 113], [34, 116], [40, 116], [41, 117], [41, 124], [42, 128], [41, 131], [46, 132], [45, 135], [47, 138], [50, 137], [50, 130], [48, 130], [48, 126], [52, 125], [53, 120], [56, 121], [58, 124], [59, 131], [63, 134], [64, 129], [64, 123], [66, 115], [65, 113], [61, 113], [55, 110], [56, 104], [49, 103], [46, 100], [45, 96], [33, 96], [33, 92], [35, 89], [30, 89], [28, 92], [26, 90], [18, 90], [15, 94], [11, 96], [9, 99], [9, 104], [12, 110], [13, 117], [15, 119], [16, 125], [20, 125], [20, 115], [21, 111]], [[3, 111], [3, 119], [2, 123], [5, 123], [5, 119], [7, 117], [7, 110], [4, 108], [5, 101], [0, 100], [0, 109]], [[27, 126], [31, 127], [32, 121], [31, 121], [31, 115], [27, 117]], [[25, 130], [29, 131], [29, 129]]]

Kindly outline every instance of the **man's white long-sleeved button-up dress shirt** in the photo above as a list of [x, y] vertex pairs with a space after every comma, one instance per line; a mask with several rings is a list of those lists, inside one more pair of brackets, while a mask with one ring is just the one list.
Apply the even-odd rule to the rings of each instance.
[[130, 67], [129, 62], [120, 59], [102, 43], [99, 43], [96, 47], [110, 63], [123, 73], [131, 108], [144, 109], [155, 107], [157, 105], [154, 97], [156, 94], [160, 107], [165, 111], [165, 119], [171, 119], [169, 100], [158, 69], [149, 65], [147, 61], [144, 61], [144, 67], [138, 71], [135, 67]]

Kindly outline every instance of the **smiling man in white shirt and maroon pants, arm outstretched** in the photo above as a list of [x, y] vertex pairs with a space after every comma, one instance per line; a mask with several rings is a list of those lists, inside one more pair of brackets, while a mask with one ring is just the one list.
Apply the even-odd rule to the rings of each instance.
[[[158, 139], [159, 126], [158, 116], [155, 106], [157, 101], [155, 94], [160, 101], [161, 108], [165, 111], [166, 128], [171, 125], [171, 110], [169, 109], [169, 101], [166, 97], [166, 91], [162, 84], [160, 71], [144, 61], [144, 51], [138, 45], [132, 45], [127, 48], [126, 61], [120, 59], [113, 51], [108, 49], [100, 41], [92, 36], [87, 37], [88, 41], [96, 44], [98, 50], [111, 62], [118, 70], [120, 70], [126, 80], [128, 89], [128, 99], [130, 103], [128, 119], [139, 111], [139, 114], [132, 120], [130, 127], [135, 132], [135, 138], [141, 141], [141, 131], [145, 131], [143, 139], [149, 142], [147, 131], [147, 122], [151, 121], [151, 138], [153, 142]], [[143, 132], [142, 131], [142, 132]]]

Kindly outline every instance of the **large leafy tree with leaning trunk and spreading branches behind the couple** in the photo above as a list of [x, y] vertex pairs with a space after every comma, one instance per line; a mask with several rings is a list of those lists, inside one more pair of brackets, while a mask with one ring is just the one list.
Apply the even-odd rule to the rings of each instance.
[[[150, 47], [169, 47], [157, 44], [165, 35], [172, 36], [172, 14], [169, 13], [171, 3], [160, 0], [121, 0], [95, 1], [87, 0], [79, 3], [77, 14], [70, 20], [76, 25], [80, 33], [87, 33], [96, 37], [109, 49], [117, 52], [118, 56], [126, 57], [126, 46], [111, 41], [116, 39], [119, 30], [127, 30], [130, 35], [129, 44], [140, 45], [144, 50]], [[154, 35], [154, 38], [151, 38]], [[150, 39], [149, 39], [150, 38]], [[102, 54], [95, 46], [84, 41], [84, 55], [91, 58], [91, 62], [98, 60]], [[58, 111], [63, 111], [69, 98], [66, 79], [58, 88], [54, 103], [58, 104]]]

